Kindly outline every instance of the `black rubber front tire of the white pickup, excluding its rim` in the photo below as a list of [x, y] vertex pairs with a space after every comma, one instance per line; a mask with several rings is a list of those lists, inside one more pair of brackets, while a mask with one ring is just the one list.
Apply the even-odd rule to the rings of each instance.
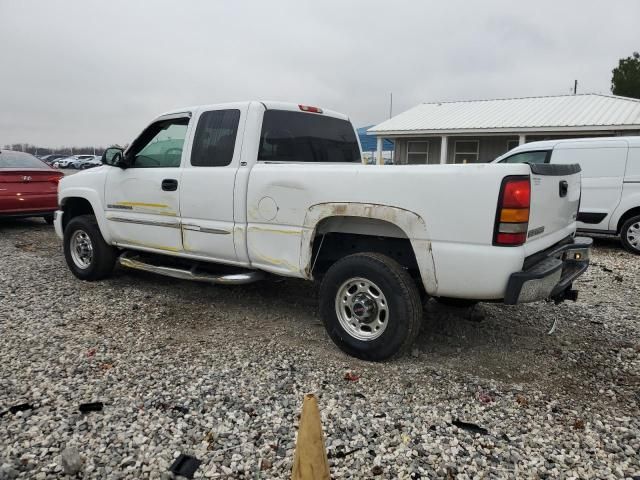
[[[76, 263], [71, 252], [71, 241], [76, 232], [86, 234], [92, 247], [91, 259], [85, 268], [81, 268]], [[117, 250], [104, 241], [96, 217], [93, 215], [79, 215], [72, 218], [64, 230], [63, 245], [67, 265], [80, 280], [101, 280], [111, 275], [117, 258]]]

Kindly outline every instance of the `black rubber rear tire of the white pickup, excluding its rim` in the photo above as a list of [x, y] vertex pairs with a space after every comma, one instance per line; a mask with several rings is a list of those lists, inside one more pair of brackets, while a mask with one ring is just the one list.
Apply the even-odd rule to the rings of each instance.
[[[358, 339], [345, 329], [339, 319], [339, 291], [352, 280], [357, 283], [357, 279], [371, 282], [382, 293], [382, 298], [386, 300], [384, 304], [388, 305], [383, 319], [386, 323], [381, 326], [382, 332], [377, 338]], [[422, 323], [420, 292], [414, 280], [398, 262], [378, 253], [349, 255], [329, 268], [320, 286], [320, 313], [327, 333], [342, 351], [373, 361], [386, 360], [409, 349], [418, 336]], [[382, 318], [377, 307], [375, 315]], [[366, 331], [358, 331], [358, 328], [370, 327], [357, 320], [357, 316], [352, 318], [355, 318], [356, 323], [352, 325], [357, 334], [366, 335]]]

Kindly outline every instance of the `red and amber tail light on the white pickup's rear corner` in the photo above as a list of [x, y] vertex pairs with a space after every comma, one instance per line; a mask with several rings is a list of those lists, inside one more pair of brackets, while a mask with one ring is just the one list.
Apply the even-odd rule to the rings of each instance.
[[527, 241], [531, 182], [529, 177], [505, 177], [500, 189], [493, 244], [519, 246]]

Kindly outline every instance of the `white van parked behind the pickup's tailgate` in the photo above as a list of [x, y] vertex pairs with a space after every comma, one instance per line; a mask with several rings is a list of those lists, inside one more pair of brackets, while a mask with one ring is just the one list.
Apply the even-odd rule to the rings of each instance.
[[619, 235], [627, 250], [640, 255], [640, 137], [525, 143], [494, 163], [580, 164], [578, 229]]

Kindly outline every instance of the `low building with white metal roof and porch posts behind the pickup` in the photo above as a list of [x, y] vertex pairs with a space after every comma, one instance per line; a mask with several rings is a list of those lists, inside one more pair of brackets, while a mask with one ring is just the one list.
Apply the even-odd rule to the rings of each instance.
[[379, 150], [393, 140], [398, 164], [490, 162], [536, 140], [640, 135], [640, 100], [581, 94], [423, 103], [367, 133]]

